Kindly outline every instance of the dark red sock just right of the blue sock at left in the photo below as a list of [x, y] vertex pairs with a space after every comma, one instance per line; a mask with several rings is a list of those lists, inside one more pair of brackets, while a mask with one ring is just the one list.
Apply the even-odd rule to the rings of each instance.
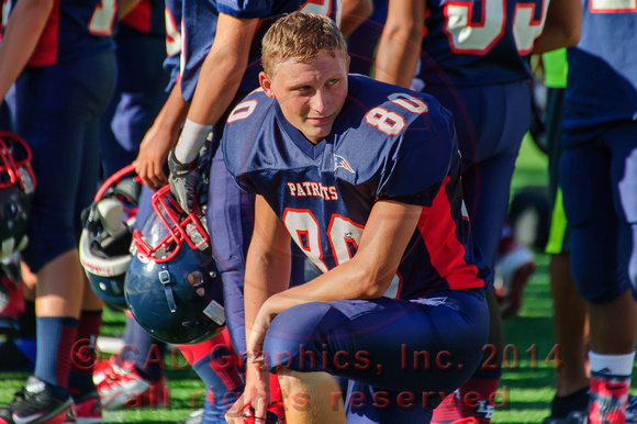
[[93, 383], [93, 370], [98, 359], [97, 342], [101, 325], [101, 310], [81, 312], [68, 379], [68, 388], [74, 397], [97, 391], [96, 384]]

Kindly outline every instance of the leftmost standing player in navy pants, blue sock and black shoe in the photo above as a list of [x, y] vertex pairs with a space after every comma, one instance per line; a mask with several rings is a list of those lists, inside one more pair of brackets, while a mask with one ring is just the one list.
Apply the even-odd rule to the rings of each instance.
[[[132, 2], [12, 2], [0, 44], [0, 98], [15, 83], [14, 131], [33, 150], [38, 187], [23, 258], [37, 276], [34, 376], [0, 411], [0, 421], [101, 421], [92, 369], [78, 366], [77, 339], [94, 339], [100, 299], [78, 260], [81, 223], [99, 177], [99, 116], [115, 80], [118, 10]], [[72, 397], [72, 398], [71, 398]]]

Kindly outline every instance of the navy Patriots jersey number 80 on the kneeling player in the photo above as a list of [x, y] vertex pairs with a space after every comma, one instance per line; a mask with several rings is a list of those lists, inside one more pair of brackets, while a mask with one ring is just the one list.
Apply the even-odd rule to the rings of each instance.
[[350, 76], [332, 134], [314, 145], [257, 90], [228, 115], [222, 145], [237, 183], [265, 198], [323, 272], [356, 254], [373, 204], [394, 200], [425, 208], [387, 297], [490, 276], [463, 213], [451, 115], [427, 94]]

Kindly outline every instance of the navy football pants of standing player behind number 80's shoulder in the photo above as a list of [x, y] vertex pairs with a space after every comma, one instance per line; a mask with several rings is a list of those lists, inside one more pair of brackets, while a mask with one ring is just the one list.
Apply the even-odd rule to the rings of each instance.
[[493, 268], [515, 159], [530, 123], [528, 82], [470, 87], [427, 83], [423, 91], [454, 113], [471, 233], [487, 265]]

